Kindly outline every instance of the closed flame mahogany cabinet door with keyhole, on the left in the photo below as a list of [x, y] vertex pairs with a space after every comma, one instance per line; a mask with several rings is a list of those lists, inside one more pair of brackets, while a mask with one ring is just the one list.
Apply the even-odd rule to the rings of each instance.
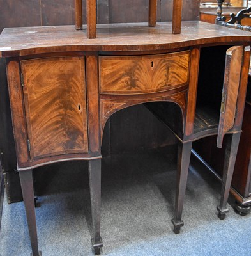
[[88, 151], [84, 57], [21, 61], [31, 161]]

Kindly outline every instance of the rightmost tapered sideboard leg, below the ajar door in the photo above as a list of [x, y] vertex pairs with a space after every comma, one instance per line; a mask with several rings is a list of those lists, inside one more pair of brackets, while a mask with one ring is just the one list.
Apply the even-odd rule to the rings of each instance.
[[218, 217], [220, 218], [220, 220], [224, 220], [225, 214], [229, 212], [229, 210], [227, 209], [227, 199], [229, 197], [232, 173], [234, 172], [234, 164], [236, 160], [240, 136], [241, 132], [232, 134], [230, 140], [227, 141], [227, 147], [225, 148], [222, 191], [220, 193], [220, 204], [217, 206]]

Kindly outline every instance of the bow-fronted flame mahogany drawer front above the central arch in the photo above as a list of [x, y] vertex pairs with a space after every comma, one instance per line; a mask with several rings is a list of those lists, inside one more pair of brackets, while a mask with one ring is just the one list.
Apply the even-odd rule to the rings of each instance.
[[190, 51], [148, 56], [100, 56], [100, 93], [153, 93], [188, 83]]

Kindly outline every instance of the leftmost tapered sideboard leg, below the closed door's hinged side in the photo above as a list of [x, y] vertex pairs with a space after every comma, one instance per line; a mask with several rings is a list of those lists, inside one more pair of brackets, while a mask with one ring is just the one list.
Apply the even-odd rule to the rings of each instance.
[[31, 256], [41, 256], [38, 251], [38, 236], [36, 232], [36, 213], [34, 207], [34, 190], [33, 190], [33, 170], [24, 170], [19, 172], [24, 206], [26, 208], [26, 218], [29, 228], [29, 237], [31, 239]]

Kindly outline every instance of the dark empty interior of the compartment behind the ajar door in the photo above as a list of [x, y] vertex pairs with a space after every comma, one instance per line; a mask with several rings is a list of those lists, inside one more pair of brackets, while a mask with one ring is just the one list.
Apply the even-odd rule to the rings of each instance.
[[229, 45], [201, 49], [194, 134], [218, 129], [227, 49]]

